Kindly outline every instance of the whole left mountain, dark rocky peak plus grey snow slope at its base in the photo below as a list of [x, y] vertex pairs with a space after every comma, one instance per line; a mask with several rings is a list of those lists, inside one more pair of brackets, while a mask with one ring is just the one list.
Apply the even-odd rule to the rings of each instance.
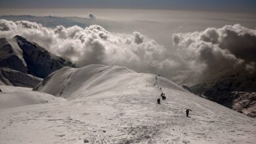
[[[33, 87], [41, 82], [39, 78], [45, 78], [65, 66], [75, 67], [75, 63], [51, 54], [19, 35], [12, 39], [0, 38], [0, 84]], [[12, 81], [25, 77], [29, 77], [30, 81]]]

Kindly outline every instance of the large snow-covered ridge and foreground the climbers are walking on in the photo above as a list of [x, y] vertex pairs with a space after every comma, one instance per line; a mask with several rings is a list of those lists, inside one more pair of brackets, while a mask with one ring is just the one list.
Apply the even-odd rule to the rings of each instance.
[[[1, 110], [1, 143], [256, 141], [253, 118], [190, 94], [163, 77], [125, 67], [64, 67], [35, 90], [68, 101]], [[167, 99], [158, 105], [161, 92]], [[186, 108], [192, 109], [190, 118]]]

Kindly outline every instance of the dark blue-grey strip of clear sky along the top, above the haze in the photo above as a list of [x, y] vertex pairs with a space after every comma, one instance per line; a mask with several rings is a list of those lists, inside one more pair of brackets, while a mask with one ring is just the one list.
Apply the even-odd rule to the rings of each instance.
[[0, 0], [1, 8], [114, 8], [256, 12], [255, 0]]

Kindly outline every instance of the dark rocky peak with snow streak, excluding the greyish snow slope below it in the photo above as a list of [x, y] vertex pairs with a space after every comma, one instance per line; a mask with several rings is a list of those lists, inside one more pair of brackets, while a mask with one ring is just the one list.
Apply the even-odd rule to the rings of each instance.
[[0, 56], [1, 67], [9, 67], [40, 78], [62, 67], [75, 67], [75, 63], [70, 60], [51, 54], [46, 48], [20, 35], [0, 41]]

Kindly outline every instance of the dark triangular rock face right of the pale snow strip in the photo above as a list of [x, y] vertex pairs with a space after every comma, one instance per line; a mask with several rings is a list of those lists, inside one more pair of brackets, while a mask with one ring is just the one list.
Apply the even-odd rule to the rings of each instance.
[[30, 43], [23, 37], [17, 35], [14, 39], [16, 39], [18, 46], [23, 51], [23, 58], [28, 65], [28, 73], [31, 75], [45, 78], [62, 67], [75, 67], [75, 64], [69, 60], [55, 56], [45, 48], [36, 43]]

